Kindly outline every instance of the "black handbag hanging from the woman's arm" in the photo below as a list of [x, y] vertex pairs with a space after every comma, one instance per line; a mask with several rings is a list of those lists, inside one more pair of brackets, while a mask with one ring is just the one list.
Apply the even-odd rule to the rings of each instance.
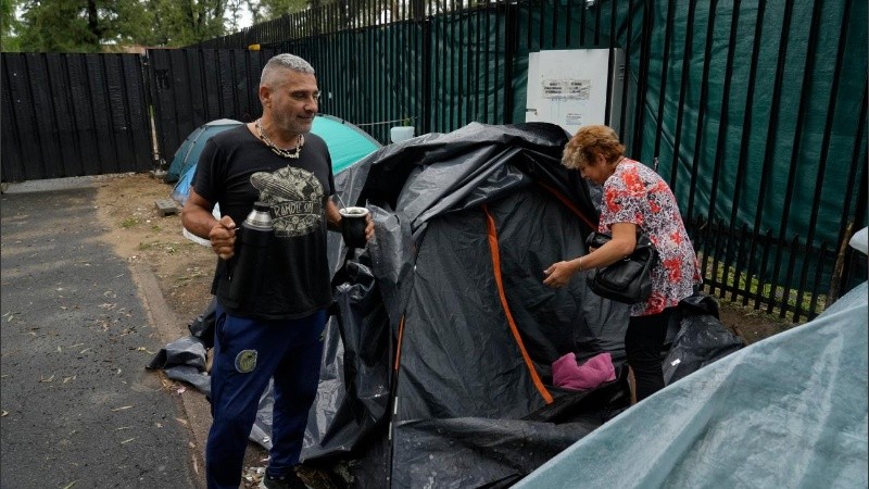
[[[588, 248], [600, 248], [613, 239], [592, 233], [585, 239]], [[588, 276], [591, 290], [606, 299], [635, 304], [652, 294], [652, 267], [658, 263], [658, 250], [645, 233], [637, 229], [637, 247], [629, 256], [609, 266], [592, 271]]]

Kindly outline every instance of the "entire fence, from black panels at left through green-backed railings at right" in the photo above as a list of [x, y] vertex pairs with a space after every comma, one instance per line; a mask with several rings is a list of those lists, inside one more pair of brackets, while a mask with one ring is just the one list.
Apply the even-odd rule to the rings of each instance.
[[866, 226], [866, 16], [853, 0], [363, 0], [144, 58], [3, 53], [2, 179], [150, 170], [151, 108], [165, 158], [205, 122], [259, 115], [279, 51], [318, 70], [323, 112], [386, 143], [401, 124], [522, 122], [529, 53], [618, 48], [607, 105], [628, 154], [660, 161], [706, 288], [802, 322], [866, 279], [846, 246]]

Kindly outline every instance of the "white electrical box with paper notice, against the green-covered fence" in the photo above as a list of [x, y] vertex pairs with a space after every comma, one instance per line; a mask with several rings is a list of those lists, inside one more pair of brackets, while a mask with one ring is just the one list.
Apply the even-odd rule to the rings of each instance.
[[[607, 79], [610, 74], [610, 106], [607, 122]], [[525, 121], [557, 124], [571, 136], [580, 126], [589, 124], [607, 124], [618, 133], [621, 126], [624, 89], [622, 49], [563, 49], [532, 52], [528, 54]]]

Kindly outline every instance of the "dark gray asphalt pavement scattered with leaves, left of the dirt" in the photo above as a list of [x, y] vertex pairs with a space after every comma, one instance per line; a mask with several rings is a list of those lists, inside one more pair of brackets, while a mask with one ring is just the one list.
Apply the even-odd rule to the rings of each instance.
[[0, 488], [200, 488], [184, 402], [144, 369], [176, 338], [99, 239], [96, 195], [84, 178], [0, 201]]

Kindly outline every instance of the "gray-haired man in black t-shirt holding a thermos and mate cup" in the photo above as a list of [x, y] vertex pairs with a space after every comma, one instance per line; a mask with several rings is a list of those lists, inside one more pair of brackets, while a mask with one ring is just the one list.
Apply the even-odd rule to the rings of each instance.
[[[266, 488], [304, 488], [295, 474], [307, 412], [323, 355], [323, 330], [332, 303], [327, 229], [340, 230], [331, 158], [310, 134], [318, 110], [314, 68], [292, 54], [263, 67], [263, 115], [211, 138], [200, 156], [184, 226], [209, 239], [217, 254], [212, 293], [215, 311], [212, 427], [205, 449], [210, 489], [238, 489], [244, 451], [260, 404], [274, 377], [272, 450]], [[257, 274], [262, 279], [230, 290], [241, 263], [238, 226], [254, 202], [268, 205], [273, 234]], [[219, 204], [219, 220], [212, 211]], [[242, 230], [241, 233], [245, 233]], [[374, 235], [368, 217], [366, 238]], [[245, 250], [247, 251], [247, 250]]]

